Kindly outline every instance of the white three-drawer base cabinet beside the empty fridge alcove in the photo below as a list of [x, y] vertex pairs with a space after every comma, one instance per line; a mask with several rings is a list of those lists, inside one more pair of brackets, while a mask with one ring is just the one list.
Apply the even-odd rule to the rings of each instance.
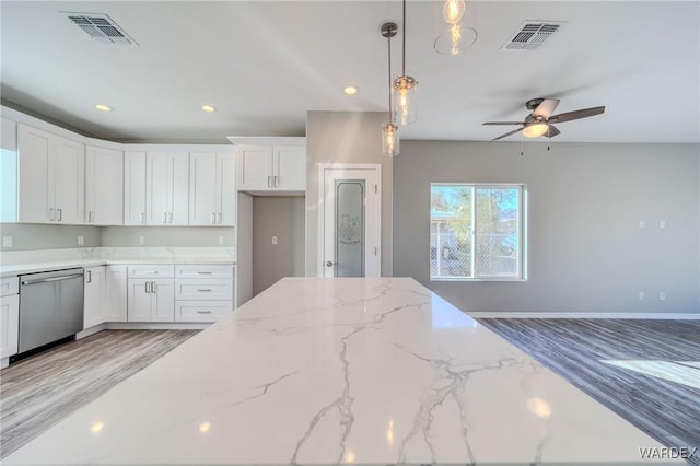
[[175, 266], [175, 322], [214, 322], [233, 311], [232, 265]]

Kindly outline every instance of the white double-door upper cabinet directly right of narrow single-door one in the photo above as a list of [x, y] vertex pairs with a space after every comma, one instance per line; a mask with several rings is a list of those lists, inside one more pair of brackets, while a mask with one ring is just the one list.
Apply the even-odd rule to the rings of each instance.
[[147, 224], [187, 225], [188, 202], [188, 153], [148, 152], [145, 154]]

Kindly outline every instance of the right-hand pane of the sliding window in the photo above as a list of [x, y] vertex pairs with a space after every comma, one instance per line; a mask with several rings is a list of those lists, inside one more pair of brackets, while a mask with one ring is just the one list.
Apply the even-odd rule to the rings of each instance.
[[520, 275], [517, 188], [477, 188], [476, 276]]

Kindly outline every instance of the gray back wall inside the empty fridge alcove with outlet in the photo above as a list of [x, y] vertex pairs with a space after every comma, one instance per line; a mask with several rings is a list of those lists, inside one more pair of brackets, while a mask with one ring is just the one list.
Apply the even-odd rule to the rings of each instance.
[[303, 197], [253, 198], [254, 295], [281, 278], [304, 276], [304, 206]]

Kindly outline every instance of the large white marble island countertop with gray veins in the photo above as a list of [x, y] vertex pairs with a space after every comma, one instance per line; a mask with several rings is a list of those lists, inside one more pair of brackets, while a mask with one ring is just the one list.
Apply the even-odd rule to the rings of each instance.
[[412, 279], [288, 278], [3, 464], [620, 465], [661, 446]]

